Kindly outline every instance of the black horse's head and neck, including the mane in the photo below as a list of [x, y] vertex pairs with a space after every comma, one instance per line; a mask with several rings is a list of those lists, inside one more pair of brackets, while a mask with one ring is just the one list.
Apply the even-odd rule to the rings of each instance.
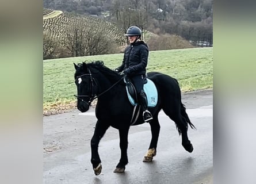
[[[77, 85], [77, 108], [86, 112], [93, 99], [103, 96], [121, 82], [123, 76], [104, 66], [102, 61], [74, 63], [75, 84]], [[99, 101], [100, 99], [98, 99]]]

